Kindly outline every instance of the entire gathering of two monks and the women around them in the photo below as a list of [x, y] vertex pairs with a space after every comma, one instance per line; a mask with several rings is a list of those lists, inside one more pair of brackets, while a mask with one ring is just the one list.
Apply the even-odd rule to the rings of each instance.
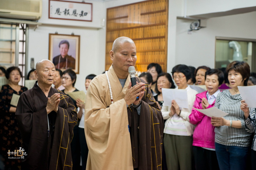
[[[168, 170], [256, 169], [256, 111], [248, 107], [238, 89], [256, 85], [255, 74], [250, 73], [246, 62], [233, 61], [220, 69], [178, 64], [172, 68], [172, 75], [163, 72], [158, 63], [150, 63], [132, 87], [126, 81], [127, 69], [119, 64], [123, 48], [131, 55], [124, 62], [131, 60], [131, 65], [135, 65], [134, 42], [127, 37], [117, 39], [110, 51], [110, 69], [100, 76], [90, 74], [85, 78], [86, 102], [69, 95], [79, 91], [75, 87], [76, 73], [71, 69], [62, 72], [49, 60], [39, 61], [36, 69], [28, 72], [27, 79], [36, 80], [32, 90], [19, 85], [22, 73], [18, 67], [0, 67], [0, 76], [9, 80], [0, 92], [0, 155], [5, 165], [0, 169], [20, 169], [21, 159], [8, 158], [10, 151], [19, 151], [20, 147], [40, 153], [27, 156], [23, 169], [73, 166], [75, 170], [85, 170], [86, 164], [88, 169], [143, 169], [141, 165], [148, 167], [148, 162]], [[204, 85], [206, 91], [199, 93], [190, 85]], [[188, 108], [180, 107], [175, 100], [168, 106], [163, 88], [186, 90]], [[123, 89], [127, 89], [126, 93]], [[22, 94], [16, 106], [11, 102], [14, 94]], [[196, 110], [214, 106], [228, 115], [208, 117]], [[125, 114], [128, 117], [123, 120]], [[48, 120], [45, 124], [44, 118]], [[150, 119], [152, 124], [147, 122]], [[126, 123], [129, 131], [120, 137], [119, 132], [127, 129]], [[160, 134], [159, 139], [154, 136], [156, 133]], [[44, 139], [47, 135], [48, 140]], [[155, 141], [151, 141], [153, 138]], [[133, 148], [131, 153], [123, 147], [127, 142]], [[144, 158], [143, 153], [147, 155], [152, 144], [156, 156]], [[127, 152], [127, 157], [133, 159], [120, 161], [123, 158], [118, 151]], [[60, 156], [62, 152], [65, 157]], [[116, 160], [111, 162], [110, 157]], [[64, 160], [65, 165], [59, 165], [58, 160]]]

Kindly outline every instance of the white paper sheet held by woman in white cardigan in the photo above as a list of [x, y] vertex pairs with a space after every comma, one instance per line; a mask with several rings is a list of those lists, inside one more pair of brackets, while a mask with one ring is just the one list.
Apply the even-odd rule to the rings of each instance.
[[175, 100], [180, 108], [188, 108], [188, 95], [186, 89], [162, 88], [162, 94], [165, 106], [172, 106], [172, 100]]

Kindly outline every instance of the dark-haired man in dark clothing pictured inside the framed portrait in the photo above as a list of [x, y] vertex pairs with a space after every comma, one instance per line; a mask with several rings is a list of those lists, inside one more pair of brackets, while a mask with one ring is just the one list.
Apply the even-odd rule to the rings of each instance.
[[53, 57], [53, 64], [56, 69], [75, 69], [76, 59], [68, 55], [69, 42], [62, 40], [59, 43], [60, 55]]

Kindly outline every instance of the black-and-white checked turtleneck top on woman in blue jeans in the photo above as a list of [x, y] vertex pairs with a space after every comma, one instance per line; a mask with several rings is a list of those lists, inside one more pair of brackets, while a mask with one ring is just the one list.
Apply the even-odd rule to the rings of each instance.
[[[241, 128], [220, 126], [215, 128], [215, 142], [223, 145], [248, 147], [251, 132], [245, 129], [244, 112], [240, 109], [242, 97], [240, 94], [231, 95], [229, 90], [220, 92], [215, 101], [215, 107], [228, 113], [223, 118], [231, 121], [241, 121]], [[252, 108], [250, 108], [251, 112]]]

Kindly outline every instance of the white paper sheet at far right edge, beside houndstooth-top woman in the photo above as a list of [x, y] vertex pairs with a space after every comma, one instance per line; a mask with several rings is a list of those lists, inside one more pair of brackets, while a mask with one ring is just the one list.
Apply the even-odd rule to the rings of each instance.
[[245, 103], [248, 104], [248, 107], [256, 107], [256, 85], [237, 87], [242, 99], [245, 100]]

